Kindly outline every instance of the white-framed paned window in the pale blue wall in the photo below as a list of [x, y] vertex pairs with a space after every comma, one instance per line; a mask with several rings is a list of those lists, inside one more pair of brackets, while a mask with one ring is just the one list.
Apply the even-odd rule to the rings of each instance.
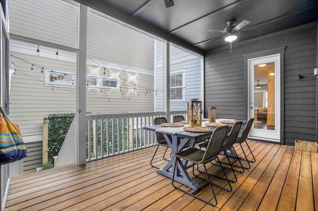
[[170, 74], [170, 100], [184, 101], [185, 100], [185, 70], [174, 70]]

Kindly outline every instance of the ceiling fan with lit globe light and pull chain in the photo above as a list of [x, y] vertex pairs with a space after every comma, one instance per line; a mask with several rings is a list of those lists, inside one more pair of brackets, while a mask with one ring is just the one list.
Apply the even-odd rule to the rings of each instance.
[[228, 27], [226, 27], [223, 31], [222, 30], [215, 30], [215, 29], [208, 30], [210, 32], [215, 31], [215, 32], [220, 32], [220, 33], [224, 34], [224, 35], [221, 35], [219, 37], [215, 37], [215, 38], [209, 40], [208, 43], [211, 43], [217, 39], [225, 37], [224, 40], [231, 43], [231, 51], [232, 51], [232, 42], [235, 41], [238, 38], [237, 35], [241, 33], [239, 30], [241, 28], [243, 28], [244, 26], [246, 26], [247, 24], [249, 24], [251, 21], [250, 20], [243, 20], [238, 25], [234, 26], [233, 24], [234, 24], [234, 22], [236, 22], [236, 19], [233, 17], [233, 18], [227, 20], [226, 22], [228, 24]]

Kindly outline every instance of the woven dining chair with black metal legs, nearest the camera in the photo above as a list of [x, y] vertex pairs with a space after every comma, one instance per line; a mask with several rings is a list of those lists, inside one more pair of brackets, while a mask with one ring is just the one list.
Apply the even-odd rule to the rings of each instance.
[[[211, 135], [211, 138], [210, 138], [210, 141], [208, 142], [208, 145], [207, 145], [207, 148], [206, 150], [202, 150], [202, 149], [199, 149], [199, 148], [189, 148], [189, 149], [186, 149], [184, 151], [181, 151], [181, 152], [177, 152], [175, 153], [175, 163], [174, 163], [174, 169], [173, 169], [173, 177], [172, 177], [172, 186], [196, 199], [199, 199], [211, 206], [216, 206], [217, 205], [217, 199], [216, 199], [216, 196], [215, 196], [215, 193], [214, 193], [214, 190], [213, 190], [213, 187], [212, 187], [212, 184], [215, 185], [215, 186], [218, 186], [220, 188], [223, 188], [222, 186], [219, 186], [215, 183], [212, 183], [211, 180], [210, 180], [210, 177], [209, 177], [209, 174], [208, 174], [208, 171], [207, 171], [207, 168], [206, 168], [206, 163], [209, 163], [211, 162], [212, 160], [219, 160], [218, 158], [218, 155], [220, 154], [220, 152], [222, 151], [223, 149], [223, 144], [224, 144], [224, 140], [225, 140], [225, 137], [227, 135], [227, 132], [228, 132], [228, 128], [229, 126], [228, 125], [223, 125], [223, 126], [219, 126], [217, 127], [212, 135]], [[186, 191], [184, 189], [182, 189], [181, 187], [178, 187], [178, 186], [175, 186], [174, 185], [174, 175], [176, 174], [176, 166], [177, 164], [178, 165], [182, 165], [182, 160], [187, 160], [189, 162], [192, 162], [194, 164], [203, 164], [204, 166], [204, 169], [205, 169], [205, 174], [206, 174], [206, 177], [207, 179], [204, 179], [202, 177], [199, 177], [197, 175], [194, 174], [195, 177], [198, 177], [204, 181], [206, 181], [207, 183], [204, 185], [209, 185], [210, 186], [210, 189], [211, 189], [211, 192], [212, 192], [212, 195], [213, 195], [213, 198], [214, 198], [214, 202], [215, 203], [211, 203], [199, 196], [196, 196], [195, 194], [199, 191], [194, 191], [194, 192], [190, 192], [190, 191]], [[223, 169], [224, 171], [224, 168], [221, 164], [221, 168]], [[192, 167], [192, 172], [194, 173], [194, 165]], [[224, 174], [226, 176], [226, 173], [224, 171]], [[227, 177], [227, 176], [226, 176]], [[230, 183], [228, 183], [230, 185]], [[202, 187], [204, 187], [202, 186]], [[202, 188], [201, 187], [201, 188]], [[230, 185], [231, 187], [231, 185]], [[232, 188], [231, 188], [232, 189]]]

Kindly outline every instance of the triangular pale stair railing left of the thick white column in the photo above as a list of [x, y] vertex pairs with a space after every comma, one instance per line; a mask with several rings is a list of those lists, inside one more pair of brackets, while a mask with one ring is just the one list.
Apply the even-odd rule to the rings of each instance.
[[70, 129], [64, 139], [60, 152], [54, 161], [55, 167], [77, 163], [78, 139], [77, 139], [77, 127], [75, 123], [76, 123], [76, 115], [74, 116]]

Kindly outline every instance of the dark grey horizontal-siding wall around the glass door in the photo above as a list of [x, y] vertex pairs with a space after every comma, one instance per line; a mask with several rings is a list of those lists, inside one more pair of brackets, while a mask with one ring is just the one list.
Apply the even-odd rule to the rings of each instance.
[[[316, 23], [210, 52], [205, 57], [205, 111], [217, 107], [218, 118], [247, 118], [247, 72], [243, 55], [286, 46], [284, 55], [284, 143], [315, 140], [316, 133]], [[301, 74], [303, 79], [298, 81]]]

